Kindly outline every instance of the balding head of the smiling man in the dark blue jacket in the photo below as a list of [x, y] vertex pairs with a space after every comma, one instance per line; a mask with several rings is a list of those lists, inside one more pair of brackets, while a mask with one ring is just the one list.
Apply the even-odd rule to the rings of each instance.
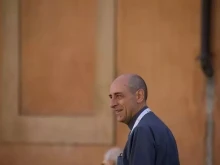
[[139, 75], [123, 74], [112, 82], [109, 97], [117, 120], [127, 124], [146, 105], [147, 86]]

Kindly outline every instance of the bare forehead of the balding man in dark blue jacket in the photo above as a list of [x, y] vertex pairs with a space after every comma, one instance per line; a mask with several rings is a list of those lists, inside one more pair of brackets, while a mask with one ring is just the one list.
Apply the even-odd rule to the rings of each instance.
[[128, 92], [128, 81], [126, 79], [117, 79], [110, 86], [110, 94]]

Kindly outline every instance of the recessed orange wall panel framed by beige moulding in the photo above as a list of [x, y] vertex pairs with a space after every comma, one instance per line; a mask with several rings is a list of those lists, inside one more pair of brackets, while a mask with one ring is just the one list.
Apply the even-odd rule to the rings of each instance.
[[94, 113], [97, 7], [96, 0], [20, 1], [22, 115]]

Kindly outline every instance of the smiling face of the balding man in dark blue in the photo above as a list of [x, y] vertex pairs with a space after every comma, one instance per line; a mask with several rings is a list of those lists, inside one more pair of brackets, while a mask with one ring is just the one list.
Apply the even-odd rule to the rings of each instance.
[[110, 107], [119, 122], [128, 123], [137, 110], [136, 94], [131, 93], [128, 78], [116, 79], [110, 87]]

